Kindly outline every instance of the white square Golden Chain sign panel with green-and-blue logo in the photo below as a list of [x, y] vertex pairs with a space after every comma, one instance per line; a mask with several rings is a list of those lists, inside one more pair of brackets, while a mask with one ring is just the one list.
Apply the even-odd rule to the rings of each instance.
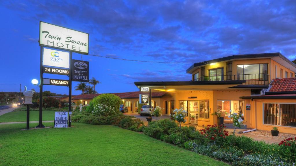
[[43, 65], [45, 66], [54, 66], [69, 69], [69, 57], [69, 52], [43, 48]]

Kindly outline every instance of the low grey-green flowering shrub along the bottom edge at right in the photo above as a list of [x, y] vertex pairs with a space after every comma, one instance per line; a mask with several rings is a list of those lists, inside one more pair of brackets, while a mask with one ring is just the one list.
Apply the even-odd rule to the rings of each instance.
[[294, 166], [295, 163], [284, 162], [277, 156], [266, 154], [250, 154], [236, 160], [233, 166]]

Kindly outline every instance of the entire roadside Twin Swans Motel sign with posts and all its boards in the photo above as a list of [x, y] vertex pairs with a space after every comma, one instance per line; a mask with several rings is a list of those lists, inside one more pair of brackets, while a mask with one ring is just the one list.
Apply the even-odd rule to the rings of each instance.
[[[40, 94], [42, 105], [43, 85], [69, 87], [69, 101], [72, 101], [72, 81], [89, 82], [89, 62], [72, 59], [72, 53], [89, 53], [89, 34], [40, 21]], [[67, 75], [69, 79], [43, 78], [43, 73]], [[55, 128], [71, 127], [71, 105], [69, 113], [55, 113]], [[68, 118], [69, 116], [69, 118]], [[69, 125], [67, 125], [69, 122]], [[42, 124], [42, 107], [39, 107], [39, 124]]]

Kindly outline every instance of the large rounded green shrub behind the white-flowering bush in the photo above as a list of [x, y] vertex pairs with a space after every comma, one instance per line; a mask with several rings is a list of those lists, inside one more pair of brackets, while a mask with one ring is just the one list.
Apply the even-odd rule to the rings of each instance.
[[[99, 104], [103, 104], [103, 105], [107, 105], [108, 107], [111, 107], [115, 109], [115, 111], [119, 111], [119, 106], [120, 106], [120, 98], [116, 95], [113, 94], [102, 94], [99, 95], [97, 97], [95, 97], [92, 100], [92, 105], [93, 107], [95, 105], [99, 105]], [[92, 106], [90, 106], [89, 108], [90, 110], [93, 110]]]

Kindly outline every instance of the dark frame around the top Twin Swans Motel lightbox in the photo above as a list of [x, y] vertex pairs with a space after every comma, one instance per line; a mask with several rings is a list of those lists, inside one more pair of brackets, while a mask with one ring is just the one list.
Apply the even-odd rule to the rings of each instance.
[[75, 52], [75, 53], [81, 53], [81, 54], [85, 54], [85, 55], [88, 55], [89, 54], [89, 33], [78, 31], [78, 30], [73, 30], [71, 28], [66, 28], [66, 27], [62, 27], [62, 26], [59, 26], [59, 25], [54, 25], [54, 26], [87, 34], [87, 52], [76, 51], [76, 50], [71, 50], [71, 49], [67, 49], [67, 48], [62, 48], [62, 47], [56, 47], [56, 46], [52, 46], [52, 45], [44, 45], [44, 44], [41, 44], [41, 41], [40, 41], [41, 40], [41, 35], [40, 35], [41, 34], [41, 22], [46, 23], [46, 24], [50, 24], [50, 25], [54, 25], [54, 24], [51, 24], [51, 23], [48, 23], [48, 22], [39, 21], [39, 41], [38, 41], [39, 42], [39, 46], [57, 48], [57, 49], [66, 50], [66, 51]]

